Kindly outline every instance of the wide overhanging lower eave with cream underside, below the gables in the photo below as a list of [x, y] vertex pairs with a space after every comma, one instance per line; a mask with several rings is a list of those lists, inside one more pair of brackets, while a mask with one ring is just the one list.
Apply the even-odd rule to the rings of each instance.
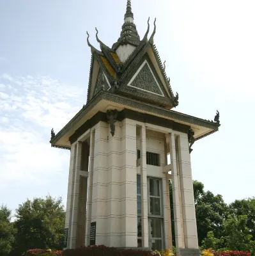
[[199, 140], [218, 131], [220, 124], [210, 122], [195, 116], [186, 115], [177, 111], [157, 107], [153, 104], [130, 99], [110, 92], [100, 91], [84, 108], [75, 115], [68, 124], [56, 134], [50, 141], [52, 147], [70, 148], [70, 136], [81, 127], [84, 122], [89, 120], [98, 111], [105, 112], [108, 106], [116, 106], [119, 109], [130, 109], [140, 113], [148, 113], [158, 117], [174, 120], [180, 124], [189, 125], [195, 131], [194, 138]]

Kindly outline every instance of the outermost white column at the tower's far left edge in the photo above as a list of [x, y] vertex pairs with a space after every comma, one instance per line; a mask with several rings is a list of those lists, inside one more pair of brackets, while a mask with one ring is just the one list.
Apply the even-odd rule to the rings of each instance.
[[70, 248], [70, 231], [72, 222], [72, 209], [73, 209], [73, 180], [75, 173], [75, 157], [76, 157], [76, 145], [72, 144], [70, 154], [70, 167], [68, 177], [68, 190], [67, 190], [67, 201], [66, 201], [66, 218], [65, 228], [68, 228], [67, 247]]

